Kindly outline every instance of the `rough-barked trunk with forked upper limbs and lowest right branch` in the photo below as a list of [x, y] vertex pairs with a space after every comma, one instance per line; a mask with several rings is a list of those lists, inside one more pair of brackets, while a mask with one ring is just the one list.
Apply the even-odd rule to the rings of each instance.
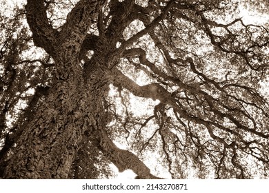
[[[52, 88], [21, 134], [4, 178], [66, 179], [86, 132], [119, 171], [131, 169], [141, 178], [157, 179], [135, 154], [114, 145], [102, 121], [105, 112], [101, 99], [108, 94], [109, 68], [119, 61], [120, 56], [119, 51], [114, 52], [109, 40], [91, 35], [86, 37], [91, 19], [103, 2], [79, 1], [68, 14], [61, 32], [57, 32], [48, 24], [44, 2], [28, 1], [27, 19], [34, 43], [52, 55], [56, 70]], [[132, 5], [134, 2], [130, 1]], [[112, 20], [114, 24], [112, 22], [110, 31], [114, 28], [118, 31], [107, 34], [110, 39], [124, 30], [117, 19]], [[84, 50], [92, 48], [95, 48], [94, 57], [82, 68], [79, 58]]]

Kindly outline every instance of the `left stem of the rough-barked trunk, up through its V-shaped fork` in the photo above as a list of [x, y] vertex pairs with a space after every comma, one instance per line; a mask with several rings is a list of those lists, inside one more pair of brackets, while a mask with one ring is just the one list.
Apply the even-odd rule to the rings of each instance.
[[[86, 90], [85, 86], [92, 86], [99, 79], [83, 81], [78, 57], [90, 19], [96, 17], [103, 2], [79, 1], [57, 34], [48, 25], [43, 1], [28, 1], [26, 10], [34, 43], [54, 57], [55, 78], [48, 97], [17, 142], [5, 178], [67, 178], [81, 136], [92, 124], [92, 114], [98, 114], [96, 111], [100, 108], [92, 103], [94, 90]], [[39, 15], [38, 10], [43, 14]], [[106, 89], [94, 91], [94, 96], [98, 97], [100, 92]]]

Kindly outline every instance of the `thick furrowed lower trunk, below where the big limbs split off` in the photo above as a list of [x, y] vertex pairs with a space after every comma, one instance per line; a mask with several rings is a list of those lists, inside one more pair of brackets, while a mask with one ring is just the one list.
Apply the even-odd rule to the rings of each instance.
[[86, 90], [79, 64], [74, 62], [69, 65], [77, 66], [77, 70], [61, 74], [68, 78], [54, 83], [23, 132], [5, 178], [66, 179], [83, 132], [99, 127], [104, 112], [101, 99], [108, 92], [108, 83], [101, 80], [100, 70], [92, 69], [96, 71], [92, 74], [99, 76], [90, 76], [90, 90]]

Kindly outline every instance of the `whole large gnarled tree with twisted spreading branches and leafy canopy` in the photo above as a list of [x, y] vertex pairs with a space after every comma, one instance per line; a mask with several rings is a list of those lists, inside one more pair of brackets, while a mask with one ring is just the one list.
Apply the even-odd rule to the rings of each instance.
[[173, 179], [268, 178], [268, 23], [238, 6], [28, 0], [1, 14], [0, 177], [109, 178], [113, 163], [159, 179], [154, 152]]

